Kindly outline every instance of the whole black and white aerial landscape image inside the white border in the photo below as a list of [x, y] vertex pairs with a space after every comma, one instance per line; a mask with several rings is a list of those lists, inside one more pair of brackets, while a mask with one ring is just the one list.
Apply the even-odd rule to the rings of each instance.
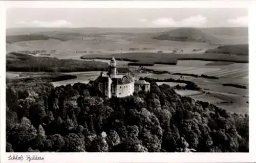
[[7, 8], [5, 152], [250, 152], [248, 22], [248, 8]]

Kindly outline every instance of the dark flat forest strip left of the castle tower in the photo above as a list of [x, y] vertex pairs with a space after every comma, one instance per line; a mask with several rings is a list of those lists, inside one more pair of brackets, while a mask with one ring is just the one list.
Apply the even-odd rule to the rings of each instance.
[[[69, 65], [69, 66], [67, 66]], [[6, 56], [6, 71], [12, 72], [86, 72], [108, 71], [108, 63], [81, 61], [51, 57], [34, 57], [22, 53], [9, 53]]]

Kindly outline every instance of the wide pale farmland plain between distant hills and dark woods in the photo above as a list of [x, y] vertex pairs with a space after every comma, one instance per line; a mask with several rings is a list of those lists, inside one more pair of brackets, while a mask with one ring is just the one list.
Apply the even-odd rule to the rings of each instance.
[[[142, 35], [142, 36], [141, 36]], [[68, 36], [67, 36], [68, 37]], [[71, 36], [72, 37], [72, 36]], [[140, 38], [142, 37], [142, 38]], [[69, 54], [79, 53], [80, 56], [87, 54], [118, 54], [118, 53], [134, 53], [134, 52], [152, 52], [172, 53], [174, 49], [179, 49], [179, 53], [198, 53], [193, 52], [194, 49], [201, 49], [200, 53], [217, 48], [217, 45], [203, 42], [186, 42], [185, 46], [180, 41], [161, 41], [151, 38], [143, 39], [144, 34], [138, 36], [130, 36], [124, 34], [102, 34], [86, 37], [77, 37], [67, 41], [50, 38], [48, 40], [29, 40], [18, 41], [12, 44], [6, 44], [6, 51], [13, 52], [17, 50], [55, 50], [52, 55], [55, 57], [58, 53], [66, 52]], [[182, 52], [181, 52], [182, 50]], [[66, 55], [67, 57], [70, 55]]]

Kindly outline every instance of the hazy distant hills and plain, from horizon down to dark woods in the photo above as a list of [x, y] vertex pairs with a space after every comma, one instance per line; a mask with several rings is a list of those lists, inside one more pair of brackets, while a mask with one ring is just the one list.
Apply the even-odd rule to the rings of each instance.
[[130, 53], [131, 49], [201, 53], [218, 45], [248, 43], [247, 28], [24, 28], [6, 32], [7, 53], [56, 50], [69, 55], [77, 51], [110, 54]]

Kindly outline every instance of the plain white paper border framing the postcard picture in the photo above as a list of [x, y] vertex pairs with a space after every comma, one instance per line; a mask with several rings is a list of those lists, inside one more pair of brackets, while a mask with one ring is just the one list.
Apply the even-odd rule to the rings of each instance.
[[[255, 162], [255, 80], [253, 78], [255, 47], [255, 1], [0, 1], [0, 105], [1, 161], [8, 161], [5, 152], [5, 9], [6, 8], [249, 8], [249, 153], [33, 153], [45, 162]], [[27, 153], [16, 153], [26, 156]], [[25, 160], [23, 160], [25, 161]], [[42, 162], [42, 161], [41, 161]]]

